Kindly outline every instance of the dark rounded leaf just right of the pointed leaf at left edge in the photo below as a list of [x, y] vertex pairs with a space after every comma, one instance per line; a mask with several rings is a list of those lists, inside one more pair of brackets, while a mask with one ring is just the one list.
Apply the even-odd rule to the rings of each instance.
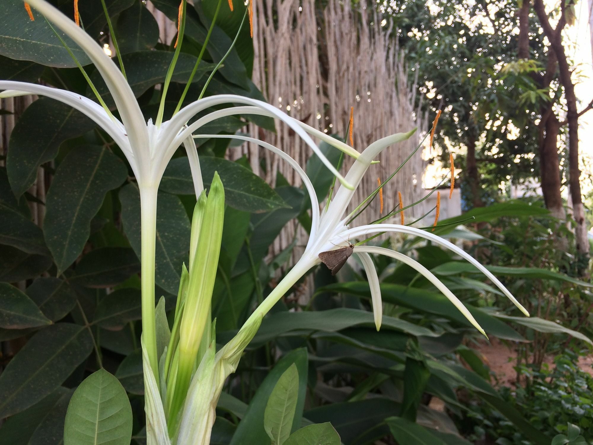
[[25, 292], [52, 322], [63, 319], [76, 304], [74, 290], [59, 278], [37, 278]]

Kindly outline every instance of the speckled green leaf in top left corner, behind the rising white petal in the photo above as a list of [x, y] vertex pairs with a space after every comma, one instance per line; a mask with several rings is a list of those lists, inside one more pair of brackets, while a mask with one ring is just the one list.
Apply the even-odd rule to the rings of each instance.
[[[103, 15], [103, 14], [101, 14]], [[21, 0], [2, 1], [2, 26], [0, 27], [0, 54], [11, 59], [33, 61], [59, 68], [74, 67], [68, 50], [63, 47], [43, 16], [33, 9], [31, 21]], [[70, 37], [57, 27], [56, 32], [82, 65], [88, 65], [90, 59]]]

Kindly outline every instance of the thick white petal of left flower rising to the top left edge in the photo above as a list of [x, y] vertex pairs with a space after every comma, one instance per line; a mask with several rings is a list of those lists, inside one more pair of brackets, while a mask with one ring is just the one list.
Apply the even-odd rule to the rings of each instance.
[[101, 73], [101, 77], [103, 77], [103, 80], [107, 84], [111, 96], [113, 96], [133, 150], [145, 150], [148, 147], [148, 133], [146, 132], [144, 116], [142, 115], [138, 101], [136, 101], [130, 86], [127, 84], [122, 72], [119, 71], [119, 68], [103, 52], [103, 49], [97, 45], [93, 37], [76, 26], [59, 9], [44, 0], [27, 0], [27, 2], [64, 33], [68, 34], [68, 37], [74, 40], [87, 53], [88, 57]]

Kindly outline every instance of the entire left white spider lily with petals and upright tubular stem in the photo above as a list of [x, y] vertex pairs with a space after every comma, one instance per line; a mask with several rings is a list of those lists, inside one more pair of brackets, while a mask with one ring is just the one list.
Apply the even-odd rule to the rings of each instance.
[[[327, 168], [340, 180], [346, 188], [353, 188], [340, 173], [331, 165], [330, 161], [323, 155], [309, 134], [319, 136], [319, 132], [297, 120], [285, 115], [285, 113], [264, 103], [243, 96], [232, 94], [218, 95], [202, 98], [186, 107], [183, 107], [176, 115], [167, 122], [157, 126], [151, 120], [145, 121], [142, 111], [136, 101], [132, 89], [120, 69], [115, 65], [109, 56], [104, 53], [103, 48], [94, 41], [84, 30], [76, 26], [66, 15], [53, 7], [45, 0], [28, 0], [31, 7], [37, 9], [47, 20], [55, 24], [60, 30], [71, 37], [79, 45], [97, 67], [101, 77], [105, 81], [109, 92], [114, 99], [121, 121], [111, 113], [89, 98], [83, 97], [71, 91], [60, 90], [59, 88], [44, 87], [43, 85], [31, 84], [28, 82], [1, 81], [0, 93], [2, 97], [23, 96], [25, 94], [39, 94], [54, 98], [69, 104], [79, 112], [84, 113], [94, 120], [120, 147], [125, 154], [127, 161], [135, 174], [138, 182], [141, 198], [141, 227], [142, 227], [142, 331], [144, 332], [145, 347], [148, 351], [148, 358], [158, 386], [158, 360], [155, 341], [155, 317], [154, 317], [154, 262], [155, 262], [155, 231], [157, 192], [161, 182], [162, 174], [168, 162], [177, 148], [183, 144], [187, 150], [187, 157], [192, 171], [195, 185], [196, 197], [203, 190], [202, 176], [200, 173], [199, 160], [196, 152], [196, 145], [192, 138], [192, 132], [200, 126], [218, 119], [222, 116], [238, 115], [244, 112], [245, 107], [232, 107], [228, 110], [218, 110], [201, 117], [192, 125], [187, 122], [197, 113], [209, 107], [226, 104], [246, 104], [249, 109], [260, 110], [257, 113], [282, 120], [290, 126], [320, 157]], [[358, 157], [358, 152], [333, 139], [328, 141], [334, 146], [346, 152], [346, 154]]]

